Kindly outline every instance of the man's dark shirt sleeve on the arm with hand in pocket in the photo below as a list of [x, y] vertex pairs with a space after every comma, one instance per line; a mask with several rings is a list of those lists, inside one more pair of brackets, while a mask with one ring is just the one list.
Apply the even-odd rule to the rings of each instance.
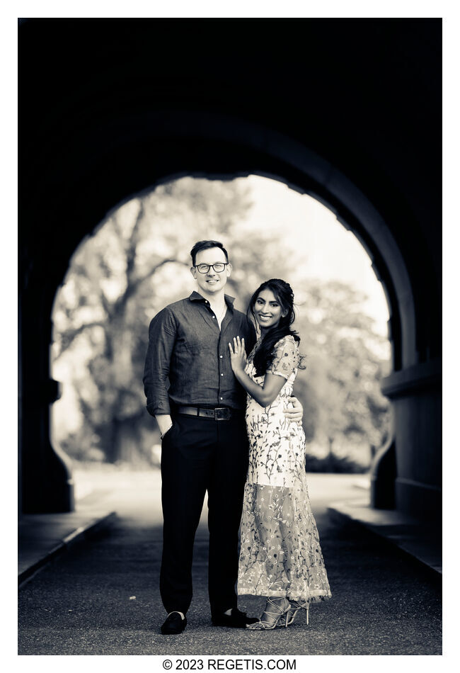
[[147, 411], [152, 416], [171, 414], [167, 380], [175, 343], [176, 321], [166, 307], [151, 320], [149, 326], [143, 382]]

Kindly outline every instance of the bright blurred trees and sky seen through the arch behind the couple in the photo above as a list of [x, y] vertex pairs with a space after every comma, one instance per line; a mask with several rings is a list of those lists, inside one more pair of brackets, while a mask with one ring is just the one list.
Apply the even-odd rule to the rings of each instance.
[[[294, 290], [306, 370], [306, 470], [366, 473], [391, 434], [379, 381], [390, 372], [388, 307], [366, 251], [325, 206], [261, 176], [185, 177], [122, 203], [81, 242], [53, 309], [52, 444], [76, 478], [159, 468], [159, 431], [142, 385], [149, 322], [195, 289], [190, 249], [222, 241], [226, 292], [246, 312], [268, 278]], [[78, 488], [78, 482], [76, 484]]]

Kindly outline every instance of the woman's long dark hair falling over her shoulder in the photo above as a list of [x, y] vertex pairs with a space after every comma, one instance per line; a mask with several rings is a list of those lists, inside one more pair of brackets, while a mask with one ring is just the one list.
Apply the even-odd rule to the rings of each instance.
[[[280, 280], [280, 278], [270, 278], [270, 281], [265, 281], [262, 283], [262, 285], [260, 285], [260, 288], [255, 290], [255, 293], [249, 301], [247, 311], [248, 319], [251, 319], [252, 317], [252, 319], [257, 324], [255, 319], [254, 306], [255, 301], [263, 290], [271, 290], [273, 295], [275, 295], [277, 302], [279, 302], [281, 306], [282, 313], [285, 315], [284, 317], [282, 316], [280, 318], [280, 322], [276, 325], [276, 327], [272, 327], [272, 329], [268, 330], [268, 332], [263, 336], [257, 351], [255, 351], [254, 366], [257, 376], [263, 376], [268, 370], [275, 356], [273, 353], [273, 347], [277, 341], [282, 339], [283, 336], [290, 334], [291, 336], [294, 336], [294, 339], [297, 341], [297, 343], [300, 341], [300, 336], [297, 334], [297, 332], [294, 331], [294, 329], [291, 329], [291, 325], [295, 319], [294, 293], [292, 292], [291, 285], [285, 281]], [[301, 360], [303, 360], [303, 358], [301, 358]], [[304, 368], [305, 367], [301, 364], [300, 361], [299, 369]]]

